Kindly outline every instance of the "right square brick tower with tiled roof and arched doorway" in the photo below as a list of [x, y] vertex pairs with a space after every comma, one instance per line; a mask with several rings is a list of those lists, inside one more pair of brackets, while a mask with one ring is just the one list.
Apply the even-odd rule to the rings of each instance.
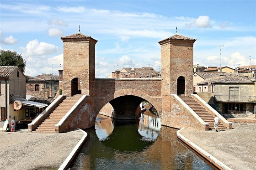
[[193, 93], [193, 44], [196, 39], [177, 34], [161, 45], [162, 96]]

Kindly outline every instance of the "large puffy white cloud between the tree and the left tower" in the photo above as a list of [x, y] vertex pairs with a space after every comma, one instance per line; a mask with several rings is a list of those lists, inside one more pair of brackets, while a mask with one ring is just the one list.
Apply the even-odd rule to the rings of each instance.
[[48, 44], [46, 42], [38, 42], [38, 40], [32, 40], [27, 43], [26, 47], [21, 47], [21, 50], [24, 52], [24, 56], [37, 56], [45, 57], [47, 54], [53, 54], [59, 51], [58, 46], [53, 44]]

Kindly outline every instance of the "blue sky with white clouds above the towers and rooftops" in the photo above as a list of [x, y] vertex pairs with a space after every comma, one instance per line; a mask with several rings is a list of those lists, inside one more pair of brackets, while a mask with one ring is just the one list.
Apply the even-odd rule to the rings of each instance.
[[176, 26], [197, 39], [194, 64], [256, 64], [256, 0], [0, 0], [0, 49], [21, 53], [30, 76], [58, 72], [60, 37], [79, 25], [98, 40], [96, 77], [117, 65], [160, 71], [158, 41], [173, 36]]

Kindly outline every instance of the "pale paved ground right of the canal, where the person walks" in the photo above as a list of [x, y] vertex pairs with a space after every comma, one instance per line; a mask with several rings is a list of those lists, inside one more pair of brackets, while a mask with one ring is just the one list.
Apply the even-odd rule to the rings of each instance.
[[183, 129], [180, 134], [232, 170], [256, 170], [256, 124], [232, 123], [232, 128]]

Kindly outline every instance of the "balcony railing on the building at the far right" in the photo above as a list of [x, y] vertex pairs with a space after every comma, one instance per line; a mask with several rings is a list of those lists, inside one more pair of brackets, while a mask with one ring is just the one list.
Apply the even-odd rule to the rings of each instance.
[[233, 95], [214, 95], [216, 102], [250, 102], [256, 103], [256, 96], [233, 96]]

